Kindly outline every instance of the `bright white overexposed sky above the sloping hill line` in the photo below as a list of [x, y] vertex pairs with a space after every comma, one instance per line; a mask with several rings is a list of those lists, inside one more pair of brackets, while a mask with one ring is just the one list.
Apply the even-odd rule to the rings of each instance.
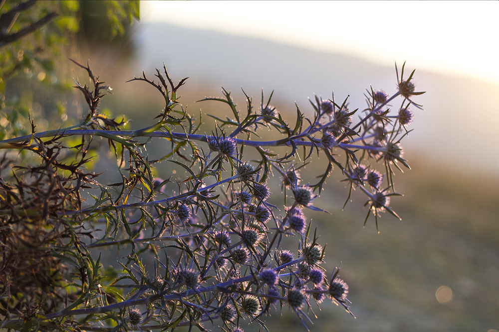
[[[348, 53], [499, 84], [499, 1], [141, 1], [143, 22]], [[264, 50], [262, 50], [264, 52]]]

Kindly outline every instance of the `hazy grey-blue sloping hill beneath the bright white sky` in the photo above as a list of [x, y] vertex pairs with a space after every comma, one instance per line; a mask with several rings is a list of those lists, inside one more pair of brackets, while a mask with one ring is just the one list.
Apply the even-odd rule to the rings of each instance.
[[[167, 64], [174, 77], [190, 76], [189, 84], [223, 86], [234, 94], [241, 87], [259, 100], [261, 89], [274, 99], [302, 111], [310, 110], [313, 94], [336, 100], [350, 95], [350, 107], [364, 108], [363, 94], [372, 85], [395, 91], [395, 68], [378, 66], [347, 54], [317, 52], [267, 40], [166, 23], [140, 24], [135, 34], [136, 66], [152, 73]], [[393, 59], [401, 66], [404, 59]], [[477, 59], [479, 61], [479, 59]], [[400, 67], [399, 67], [400, 68]], [[413, 110], [414, 132], [405, 141], [411, 150], [434, 161], [456, 163], [468, 170], [499, 170], [499, 85], [468, 77], [416, 69], [417, 97], [424, 111]], [[139, 72], [140, 73], [140, 72]], [[394, 107], [400, 104], [394, 103]], [[281, 110], [283, 111], [283, 110]]]

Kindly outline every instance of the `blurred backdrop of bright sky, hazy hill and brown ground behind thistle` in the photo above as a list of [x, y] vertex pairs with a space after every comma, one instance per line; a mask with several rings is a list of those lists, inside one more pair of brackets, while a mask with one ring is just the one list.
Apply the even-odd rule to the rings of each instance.
[[[242, 89], [256, 104], [262, 89], [274, 91], [272, 105], [291, 118], [295, 103], [312, 115], [308, 98], [333, 91], [362, 110], [371, 86], [396, 91], [395, 62], [416, 69], [416, 89], [426, 93], [414, 98], [424, 110], [412, 109], [414, 131], [403, 143], [412, 170], [394, 178], [402, 221], [382, 216], [379, 234], [374, 222], [363, 227], [363, 198], [342, 209], [348, 188], [333, 172], [316, 204], [331, 214], [309, 218], [327, 243], [328, 270], [341, 263], [356, 319], [326, 301], [312, 305], [318, 318], [309, 328], [499, 331], [497, 1], [141, 1], [140, 21], [113, 42], [92, 2], [80, 1], [86, 18], [65, 52], [89, 60], [113, 87], [102, 107], [125, 114], [133, 129], [150, 125], [164, 101], [142, 82], [125, 82], [142, 71], [152, 77], [163, 63], [174, 82], [189, 77], [182, 105], [208, 123], [206, 114], [229, 110], [196, 101], [220, 97], [221, 87], [243, 109]], [[69, 61], [59, 66], [85, 79]], [[77, 116], [83, 101], [71, 103]], [[305, 331], [287, 308], [266, 321], [270, 331]]]

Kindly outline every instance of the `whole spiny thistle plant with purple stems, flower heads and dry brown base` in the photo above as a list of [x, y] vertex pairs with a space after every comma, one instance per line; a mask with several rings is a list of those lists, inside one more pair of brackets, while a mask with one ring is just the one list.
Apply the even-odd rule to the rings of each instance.
[[[404, 64], [399, 77], [396, 66], [395, 93], [371, 88], [362, 111], [315, 96], [313, 116], [296, 105], [290, 122], [270, 106], [272, 94], [255, 107], [243, 91], [240, 109], [223, 89], [201, 101], [220, 102], [230, 116], [212, 115], [216, 126], [206, 129], [180, 104], [186, 79], [174, 83], [164, 66], [154, 80], [143, 73], [130, 83], [157, 90], [164, 108], [150, 126], [125, 130], [124, 119], [100, 112], [110, 87], [75, 64], [89, 77], [75, 86], [87, 115], [44, 132], [31, 120], [30, 135], [0, 141], [0, 328], [232, 332], [264, 327], [285, 308], [306, 327], [326, 298], [353, 316], [348, 284], [339, 267], [324, 267], [307, 212], [325, 213], [314, 200], [334, 170], [347, 184], [345, 204], [353, 190], [365, 194], [364, 224], [372, 215], [378, 227], [384, 212], [399, 218], [389, 203], [399, 195], [392, 175], [409, 168], [401, 141], [411, 110], [421, 108], [414, 71], [404, 77]], [[262, 130], [277, 138], [261, 140]], [[169, 147], [157, 160], [148, 157], [152, 140]], [[90, 167], [105, 149], [118, 183]], [[327, 165], [304, 176], [315, 154]]]

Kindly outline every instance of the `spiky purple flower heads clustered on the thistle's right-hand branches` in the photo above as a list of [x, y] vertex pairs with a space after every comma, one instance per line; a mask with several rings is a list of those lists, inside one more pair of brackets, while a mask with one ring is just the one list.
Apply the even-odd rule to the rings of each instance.
[[[164, 213], [171, 224], [163, 227], [161, 234], [169, 231], [171, 234], [164, 238], [175, 241], [165, 251], [177, 248], [181, 254], [167, 254], [168, 263], [162, 262], [158, 268], [164, 273], [157, 272], [164, 277], [149, 281], [151, 289], [161, 294], [165, 303], [176, 302], [195, 312], [199, 322], [219, 319], [228, 332], [243, 331], [241, 322], [245, 319], [262, 324], [262, 317], [277, 305], [287, 305], [303, 323], [309, 320], [305, 311], [311, 311], [312, 300], [319, 305], [328, 297], [350, 312], [349, 287], [338, 277], [339, 269], [328, 274], [321, 265], [324, 248], [317, 242], [316, 233], [311, 234], [305, 212], [323, 211], [314, 205], [314, 199], [333, 167], [338, 167], [350, 188], [347, 202], [352, 190], [368, 197], [365, 222], [371, 213], [376, 227], [382, 212], [398, 217], [389, 207], [390, 197], [398, 195], [392, 166], [407, 166], [400, 140], [408, 134], [406, 127], [412, 122], [409, 108], [419, 107], [410, 98], [420, 94], [411, 79], [412, 74], [407, 80], [397, 78], [398, 91], [392, 96], [371, 89], [366, 95], [367, 108], [359, 112], [350, 110], [346, 100], [338, 105], [334, 96], [331, 100], [316, 97], [316, 103], [311, 103], [314, 118], [304, 121], [298, 110], [294, 126], [284, 122], [269, 105], [270, 99], [264, 103], [263, 95], [259, 112], [252, 112], [248, 98], [247, 116], [241, 118], [224, 90], [224, 102], [231, 106], [235, 118], [217, 118], [222, 122], [218, 126], [220, 135], [189, 135], [191, 146], [197, 139], [207, 143], [208, 149], [194, 151], [189, 179], [179, 181], [184, 189], [164, 200], [174, 203]], [[392, 115], [390, 103], [397, 96], [402, 96], [403, 102]], [[251, 139], [258, 125], [273, 127], [285, 138], [258, 143]], [[231, 126], [234, 130], [229, 131]], [[272, 146], [291, 151], [279, 158], [269, 150]], [[243, 150], [251, 147], [261, 159], [245, 158]], [[300, 147], [308, 153], [298, 167], [291, 159]], [[299, 169], [314, 150], [322, 150], [329, 163], [322, 175], [314, 177], [318, 183], [303, 185], [304, 173], [300, 175]], [[194, 171], [193, 165], [199, 165], [200, 170]], [[280, 175], [284, 205], [272, 195], [269, 179], [273, 171]], [[205, 181], [213, 184], [206, 186]], [[164, 194], [164, 183], [155, 179], [153, 190]], [[294, 252], [282, 247], [282, 239], [287, 236], [299, 239]], [[131, 325], [143, 322], [139, 314], [135, 309], [128, 312]]]

